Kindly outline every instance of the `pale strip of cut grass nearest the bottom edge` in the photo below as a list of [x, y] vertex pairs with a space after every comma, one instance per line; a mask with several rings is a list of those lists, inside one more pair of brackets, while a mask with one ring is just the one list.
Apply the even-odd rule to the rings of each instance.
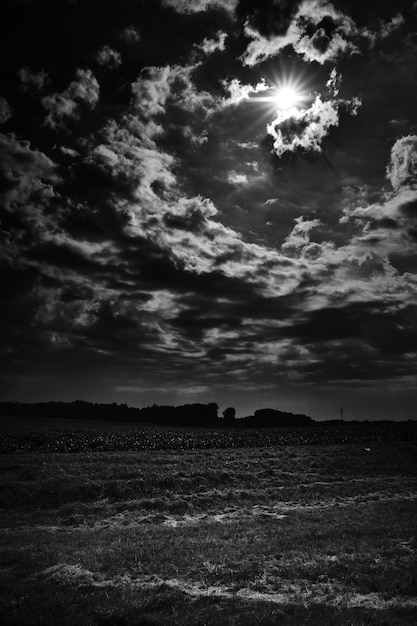
[[342, 584], [309, 583], [307, 580], [294, 580], [283, 583], [279, 592], [261, 592], [241, 587], [233, 590], [225, 586], [203, 586], [193, 581], [177, 578], [162, 579], [158, 576], [132, 578], [128, 574], [106, 578], [99, 572], [92, 572], [81, 564], [58, 563], [37, 572], [31, 579], [53, 580], [58, 583], [82, 587], [113, 587], [131, 590], [150, 590], [168, 587], [193, 598], [214, 597], [222, 600], [242, 600], [247, 602], [268, 602], [277, 605], [325, 605], [336, 608], [366, 608], [387, 610], [392, 608], [417, 608], [417, 597], [395, 596], [387, 599], [380, 593], [358, 593]]

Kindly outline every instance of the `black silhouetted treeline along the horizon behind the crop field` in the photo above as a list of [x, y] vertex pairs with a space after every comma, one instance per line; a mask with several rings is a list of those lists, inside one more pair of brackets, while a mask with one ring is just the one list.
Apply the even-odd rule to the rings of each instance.
[[235, 419], [235, 409], [227, 408], [218, 415], [218, 405], [184, 404], [182, 406], [159, 406], [145, 408], [129, 407], [127, 404], [99, 404], [76, 400], [75, 402], [24, 402], [0, 403], [0, 415], [10, 417], [51, 417], [60, 419], [86, 419], [117, 422], [146, 422], [180, 426], [234, 426], [277, 427], [313, 426], [316, 422], [307, 415], [294, 415], [276, 409], [259, 409], [254, 415]]

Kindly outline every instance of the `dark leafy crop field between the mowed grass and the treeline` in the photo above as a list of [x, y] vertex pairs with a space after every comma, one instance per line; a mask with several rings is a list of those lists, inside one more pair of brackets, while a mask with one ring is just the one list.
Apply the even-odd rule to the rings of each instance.
[[216, 429], [0, 417], [0, 454], [265, 448], [410, 440], [417, 440], [417, 422]]

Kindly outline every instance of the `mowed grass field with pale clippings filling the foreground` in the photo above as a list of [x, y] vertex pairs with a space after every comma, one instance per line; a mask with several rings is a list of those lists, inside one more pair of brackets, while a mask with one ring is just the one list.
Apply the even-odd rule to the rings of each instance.
[[417, 623], [417, 442], [0, 460], [1, 623]]

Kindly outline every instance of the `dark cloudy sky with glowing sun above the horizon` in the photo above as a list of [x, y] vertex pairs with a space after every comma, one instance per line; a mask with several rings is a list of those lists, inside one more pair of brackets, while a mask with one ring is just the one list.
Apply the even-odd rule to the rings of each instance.
[[0, 24], [0, 400], [416, 417], [417, 2]]

